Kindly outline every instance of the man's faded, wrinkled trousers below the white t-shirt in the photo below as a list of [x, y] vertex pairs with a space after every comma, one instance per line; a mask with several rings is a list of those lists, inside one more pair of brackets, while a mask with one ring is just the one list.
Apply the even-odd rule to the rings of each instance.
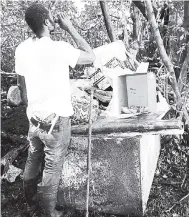
[[25, 165], [24, 182], [36, 179], [45, 153], [45, 167], [42, 182], [38, 188], [42, 204], [49, 212], [55, 209], [58, 185], [70, 138], [71, 121], [69, 117], [59, 117], [51, 134], [37, 128], [30, 121], [28, 132], [30, 147]]

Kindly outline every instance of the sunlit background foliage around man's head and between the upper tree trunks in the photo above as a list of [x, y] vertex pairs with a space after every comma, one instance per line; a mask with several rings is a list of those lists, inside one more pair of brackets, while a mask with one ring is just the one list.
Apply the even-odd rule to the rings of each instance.
[[[1, 20], [1, 69], [6, 72], [14, 71], [14, 52], [15, 48], [24, 39], [32, 35], [24, 21], [24, 11], [33, 1], [6, 1], [3, 0]], [[104, 18], [100, 9], [100, 5], [96, 1], [85, 1], [84, 8], [78, 10], [78, 4], [72, 1], [36, 1], [42, 2], [52, 11], [53, 15], [60, 12], [66, 12], [71, 18], [78, 32], [88, 41], [92, 48], [109, 43], [110, 40], [104, 25]], [[156, 4], [157, 11], [161, 10], [161, 4]], [[138, 42], [140, 52], [138, 58], [146, 61], [160, 62], [157, 47], [143, 15], [131, 3], [131, 1], [110, 1], [108, 2], [110, 17], [114, 27], [117, 39], [129, 42], [129, 47], [133, 47], [133, 34], [135, 22], [138, 22]], [[182, 26], [183, 23], [183, 3], [170, 2], [170, 24], [164, 40], [168, 38], [169, 47], [171, 47], [170, 56], [176, 69], [180, 69], [182, 64], [182, 54], [185, 49], [186, 32]], [[137, 21], [133, 19], [134, 14], [138, 14]], [[157, 18], [158, 19], [158, 18]], [[159, 20], [160, 30], [163, 29], [162, 20]], [[124, 38], [123, 38], [124, 37]], [[126, 38], [128, 37], [128, 38]], [[74, 44], [72, 38], [66, 32], [58, 27], [53, 35], [55, 40], [66, 40]], [[179, 57], [179, 58], [178, 58]], [[181, 62], [181, 63], [180, 63]], [[177, 70], [179, 71], [179, 70]]]

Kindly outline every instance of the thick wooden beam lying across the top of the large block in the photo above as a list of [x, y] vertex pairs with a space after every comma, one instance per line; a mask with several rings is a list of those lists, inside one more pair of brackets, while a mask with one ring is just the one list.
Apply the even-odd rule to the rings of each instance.
[[[93, 123], [93, 135], [110, 134], [161, 134], [183, 130], [180, 120], [158, 120], [155, 114], [141, 114], [128, 119], [102, 118]], [[72, 126], [72, 134], [87, 135], [88, 125]], [[164, 133], [165, 134], [165, 133]]]

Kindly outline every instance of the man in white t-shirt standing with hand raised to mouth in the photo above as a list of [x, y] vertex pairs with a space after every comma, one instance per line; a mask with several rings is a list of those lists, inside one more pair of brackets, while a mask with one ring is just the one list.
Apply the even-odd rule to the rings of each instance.
[[57, 191], [70, 142], [70, 116], [73, 114], [69, 66], [91, 64], [95, 56], [88, 43], [63, 15], [58, 15], [57, 22], [72, 36], [78, 49], [66, 42], [50, 39], [55, 22], [43, 5], [32, 4], [26, 10], [25, 20], [36, 37], [22, 42], [15, 52], [15, 70], [23, 102], [28, 105], [30, 123], [24, 192], [30, 216], [35, 216], [38, 210], [37, 178], [45, 153], [39, 196], [46, 216], [59, 217], [61, 213], [55, 209]]

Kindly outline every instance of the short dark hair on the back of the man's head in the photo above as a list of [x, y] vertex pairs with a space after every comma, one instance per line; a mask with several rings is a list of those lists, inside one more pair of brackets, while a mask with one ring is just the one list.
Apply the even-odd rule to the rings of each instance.
[[48, 18], [49, 11], [42, 4], [34, 3], [25, 12], [26, 23], [35, 34], [41, 33]]

